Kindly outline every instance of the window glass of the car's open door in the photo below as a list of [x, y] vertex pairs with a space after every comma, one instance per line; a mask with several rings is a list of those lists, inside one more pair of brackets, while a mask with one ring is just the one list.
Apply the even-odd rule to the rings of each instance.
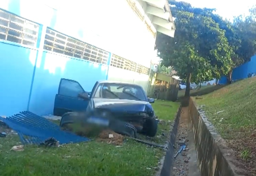
[[85, 91], [78, 82], [73, 80], [66, 80], [66, 79], [63, 79], [60, 82], [60, 87], [59, 87], [60, 95], [78, 97], [78, 94], [80, 93], [85, 93]]

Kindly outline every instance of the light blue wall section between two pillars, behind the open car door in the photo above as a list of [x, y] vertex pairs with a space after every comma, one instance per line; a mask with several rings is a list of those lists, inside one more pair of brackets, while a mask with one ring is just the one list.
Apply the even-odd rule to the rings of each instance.
[[97, 80], [106, 79], [107, 70], [106, 65], [43, 52], [37, 60], [29, 110], [40, 115], [52, 113], [61, 78], [76, 80], [91, 91]]

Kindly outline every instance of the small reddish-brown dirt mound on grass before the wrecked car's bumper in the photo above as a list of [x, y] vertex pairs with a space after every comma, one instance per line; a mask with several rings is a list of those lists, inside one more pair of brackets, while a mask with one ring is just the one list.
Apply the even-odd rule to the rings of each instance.
[[106, 142], [108, 144], [114, 144], [116, 146], [121, 146], [123, 144], [123, 136], [111, 130], [102, 131], [96, 140]]

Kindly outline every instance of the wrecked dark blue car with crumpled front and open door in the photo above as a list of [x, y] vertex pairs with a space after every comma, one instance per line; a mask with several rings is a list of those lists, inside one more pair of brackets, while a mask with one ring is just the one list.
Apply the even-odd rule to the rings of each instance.
[[[97, 81], [86, 92], [75, 80], [62, 78], [55, 96], [54, 115], [62, 116], [60, 126], [75, 119], [110, 127], [120, 134], [136, 133], [154, 137], [158, 120], [142, 86], [116, 81]], [[92, 118], [93, 117], [93, 118]]]

